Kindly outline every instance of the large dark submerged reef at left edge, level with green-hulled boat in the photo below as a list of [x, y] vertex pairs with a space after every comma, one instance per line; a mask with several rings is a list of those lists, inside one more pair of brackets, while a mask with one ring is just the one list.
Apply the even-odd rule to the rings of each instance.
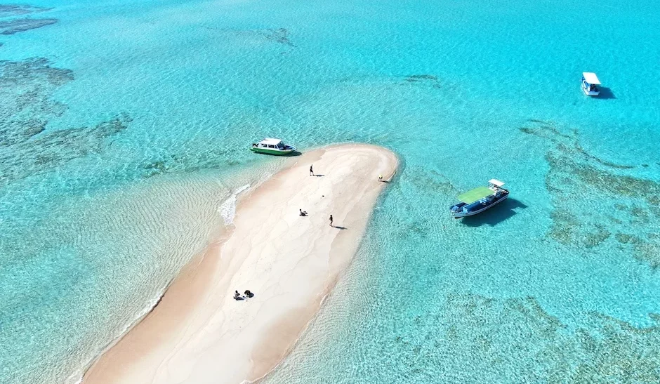
[[52, 100], [55, 89], [73, 80], [68, 69], [48, 60], [0, 61], [0, 186], [103, 151], [107, 138], [131, 121], [119, 115], [95, 126], [47, 132], [48, 119], [66, 106]]

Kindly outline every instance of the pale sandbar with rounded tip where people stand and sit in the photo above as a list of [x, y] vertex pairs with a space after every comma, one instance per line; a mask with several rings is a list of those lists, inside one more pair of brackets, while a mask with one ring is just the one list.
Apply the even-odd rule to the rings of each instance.
[[[310, 176], [310, 165], [316, 176]], [[242, 383], [289, 353], [350, 264], [397, 168], [382, 147], [292, 157], [239, 198], [233, 227], [171, 284], [83, 383]], [[308, 212], [300, 216], [299, 209]], [[329, 224], [329, 216], [334, 226]], [[237, 290], [252, 298], [234, 300]]]

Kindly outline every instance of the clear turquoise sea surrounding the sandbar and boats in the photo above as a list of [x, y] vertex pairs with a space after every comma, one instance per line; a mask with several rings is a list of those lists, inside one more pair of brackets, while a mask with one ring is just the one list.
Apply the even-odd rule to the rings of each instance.
[[12, 4], [1, 383], [77, 382], [277, 170], [263, 136], [402, 161], [266, 383], [660, 382], [660, 3]]

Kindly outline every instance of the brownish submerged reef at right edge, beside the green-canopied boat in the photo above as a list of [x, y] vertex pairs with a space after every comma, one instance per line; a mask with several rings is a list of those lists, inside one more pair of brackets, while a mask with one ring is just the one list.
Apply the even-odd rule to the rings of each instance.
[[[562, 133], [546, 121], [520, 128], [550, 141], [546, 188], [554, 211], [548, 237], [562, 244], [593, 249], [616, 241], [636, 259], [660, 266], [660, 183], [633, 176], [638, 166], [615, 164], [588, 153], [576, 131]], [[642, 164], [643, 168], [643, 164]], [[598, 196], [594, 209], [589, 199]], [[607, 225], [606, 225], [607, 224]]]

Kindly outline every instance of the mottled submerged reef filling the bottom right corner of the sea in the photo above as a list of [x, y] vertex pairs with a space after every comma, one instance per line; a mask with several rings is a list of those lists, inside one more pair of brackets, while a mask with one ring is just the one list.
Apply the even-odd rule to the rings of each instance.
[[391, 353], [406, 360], [409, 382], [433, 381], [426, 377], [430, 371], [455, 383], [660, 380], [658, 315], [649, 315], [653, 326], [638, 328], [590, 312], [584, 315], [590, 326], [575, 328], [550, 315], [535, 298], [473, 293], [450, 293], [440, 308], [402, 319], [411, 324], [402, 327], [409, 331], [385, 341]]

